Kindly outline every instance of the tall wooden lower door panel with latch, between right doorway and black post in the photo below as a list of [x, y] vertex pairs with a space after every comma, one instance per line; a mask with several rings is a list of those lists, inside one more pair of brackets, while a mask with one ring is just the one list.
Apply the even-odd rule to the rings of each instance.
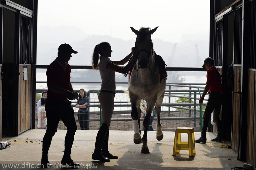
[[[234, 92], [241, 91], [241, 67], [234, 66]], [[237, 152], [239, 143], [239, 112], [240, 112], [240, 95], [233, 96], [233, 127], [232, 127], [232, 148]]]

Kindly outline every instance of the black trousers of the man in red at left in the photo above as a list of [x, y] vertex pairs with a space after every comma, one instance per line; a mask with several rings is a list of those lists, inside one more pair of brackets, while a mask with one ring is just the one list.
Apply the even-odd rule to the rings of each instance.
[[48, 157], [48, 151], [52, 142], [52, 136], [57, 132], [59, 121], [62, 120], [67, 127], [65, 137], [64, 156], [70, 156], [71, 148], [76, 133], [76, 120], [74, 110], [71, 107], [71, 102], [68, 99], [51, 99], [47, 98], [45, 104], [47, 117], [47, 129], [43, 138], [43, 158]]

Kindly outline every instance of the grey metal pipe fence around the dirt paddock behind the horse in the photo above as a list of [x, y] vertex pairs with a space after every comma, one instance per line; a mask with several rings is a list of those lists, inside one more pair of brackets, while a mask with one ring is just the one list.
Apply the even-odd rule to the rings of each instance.
[[[40, 81], [40, 83], [46, 83], [46, 81]], [[72, 84], [75, 84], [75, 83], [84, 83], [86, 84], [87, 82], [72, 82]], [[92, 83], [101, 83], [101, 82], [92, 82]], [[127, 84], [126, 82], [117, 82], [119, 84]], [[192, 86], [193, 85], [193, 86]], [[166, 113], [166, 116], [165, 117], [161, 117], [161, 121], [167, 121], [168, 120], [192, 120], [193, 121], [193, 125], [190, 125], [190, 126], [193, 126], [194, 128], [198, 127], [198, 124], [200, 125], [200, 130], [201, 130], [201, 115], [202, 115], [202, 111], [201, 111], [201, 107], [198, 108], [198, 106], [201, 106], [201, 104], [198, 104], [198, 100], [200, 97], [198, 97], [200, 95], [200, 92], [203, 91], [202, 88], [203, 87], [198, 87], [198, 86], [194, 86], [196, 84], [185, 84], [185, 83], [182, 83], [182, 84], [167, 84], [168, 86], [168, 89], [165, 90], [165, 98], [168, 99], [168, 101], [163, 101], [162, 103], [162, 107], [166, 107], [168, 109], [165, 109], [161, 111], [161, 113]], [[171, 89], [171, 87], [173, 86], [174, 87], [178, 87], [178, 88], [182, 88], [182, 89], [173, 89], [173, 90], [169, 90]], [[201, 90], [199, 89], [201, 88]], [[44, 91], [45, 89], [37, 89], [36, 90], [36, 93], [41, 93], [42, 91]], [[199, 91], [198, 91], [199, 90]], [[78, 92], [78, 90], [75, 90]], [[97, 95], [99, 94], [99, 90], [89, 90], [87, 92], [87, 96], [90, 98], [90, 106], [88, 107], [89, 108], [89, 114], [91, 116], [90, 120], [90, 123], [92, 124], [92, 122], [95, 122], [94, 125], [90, 125], [90, 129], [97, 129], [98, 127], [101, 126], [101, 109], [100, 109], [100, 103], [98, 101], [98, 98], [97, 98]], [[118, 126], [123, 126], [122, 125], [122, 122], [127, 122], [127, 121], [130, 121], [132, 122], [132, 118], [131, 116], [126, 116], [126, 117], [121, 117], [120, 116], [115, 116], [115, 115], [118, 115], [118, 114], [129, 114], [131, 113], [131, 103], [129, 101], [129, 97], [127, 95], [124, 95], [124, 91], [123, 90], [116, 90], [116, 95], [117, 94], [122, 94], [123, 96], [123, 100], [116, 100], [115, 101], [115, 108], [120, 108], [120, 109], [116, 109], [114, 110], [114, 113], [113, 113], [113, 117], [111, 119], [111, 121], [113, 122], [119, 122], [119, 125]], [[180, 99], [188, 99], [186, 102], [173, 102], [171, 101], [172, 98], [180, 98]], [[206, 98], [207, 100], [207, 98]], [[206, 104], [203, 104], [203, 105], [206, 105]], [[72, 101], [72, 104], [71, 106], [74, 108], [75, 112], [77, 113], [77, 110], [75, 108], [76, 106], [76, 100], [73, 100]], [[128, 109], [129, 108], [129, 109]], [[172, 109], [172, 111], [171, 111]], [[175, 109], [175, 110], [173, 110]], [[179, 111], [179, 112], [185, 112], [185, 111], [188, 111], [188, 116], [180, 116], [180, 115], [177, 115], [177, 116], [170, 116], [172, 112], [174, 111]], [[200, 114], [198, 114], [200, 112]], [[95, 115], [98, 115], [95, 117]], [[184, 115], [184, 114], [182, 114]], [[143, 121], [143, 119], [141, 118], [140, 119], [141, 121]], [[156, 118], [154, 118], [154, 120], [156, 120]], [[200, 121], [200, 123], [198, 122], [198, 120]], [[76, 118], [76, 121], [78, 122], [79, 120]], [[121, 125], [120, 125], [121, 124]], [[177, 123], [177, 127], [179, 126], [180, 122]], [[93, 126], [95, 128], [93, 128]], [[117, 126], [117, 128], [118, 128]], [[130, 127], [132, 127], [132, 125], [129, 125]], [[166, 126], [170, 126], [170, 125], [166, 125]], [[60, 127], [60, 129], [62, 129]], [[79, 129], [79, 126], [78, 126], [78, 129]], [[129, 129], [129, 127], [128, 127]], [[175, 128], [173, 128], [175, 129]], [[199, 128], [197, 128], [199, 130]], [[112, 130], [116, 130], [116, 129], [112, 129]]]

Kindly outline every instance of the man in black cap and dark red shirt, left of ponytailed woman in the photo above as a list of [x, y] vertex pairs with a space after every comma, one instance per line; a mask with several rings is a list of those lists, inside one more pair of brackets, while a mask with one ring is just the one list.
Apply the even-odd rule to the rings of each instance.
[[74, 110], [69, 100], [73, 100], [76, 97], [73, 94], [75, 91], [70, 82], [71, 68], [68, 64], [69, 59], [72, 57], [71, 53], [76, 54], [77, 51], [73, 50], [72, 47], [66, 43], [61, 44], [58, 50], [58, 57], [48, 66], [46, 71], [48, 87], [48, 98], [45, 104], [47, 129], [42, 141], [43, 154], [41, 165], [44, 165], [44, 168], [52, 167], [48, 160], [48, 151], [52, 142], [52, 136], [57, 132], [59, 121], [62, 120], [67, 127], [67, 134], [61, 164], [79, 167], [79, 164], [76, 164], [70, 157], [76, 132], [76, 121]]

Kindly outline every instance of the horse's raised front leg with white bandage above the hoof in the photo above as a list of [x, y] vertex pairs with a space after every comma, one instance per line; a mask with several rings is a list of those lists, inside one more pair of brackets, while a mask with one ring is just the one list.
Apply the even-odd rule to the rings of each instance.
[[[141, 143], [141, 130], [140, 130], [140, 117], [137, 111], [137, 99], [135, 97], [135, 95], [132, 95], [132, 93], [130, 92], [130, 101], [131, 101], [131, 105], [132, 105], [132, 113], [131, 113], [131, 117], [132, 117], [132, 122], [133, 122], [133, 131], [134, 131], [134, 135], [133, 135], [133, 142], [135, 144], [139, 144]], [[141, 112], [140, 112], [141, 114]]]

